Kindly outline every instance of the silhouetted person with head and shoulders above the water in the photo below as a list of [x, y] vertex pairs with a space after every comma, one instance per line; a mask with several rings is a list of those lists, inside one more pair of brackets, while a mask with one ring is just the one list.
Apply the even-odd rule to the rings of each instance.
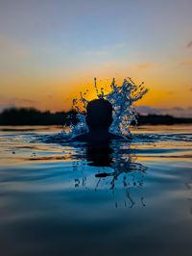
[[75, 141], [104, 143], [110, 140], [123, 139], [108, 132], [112, 123], [112, 105], [105, 99], [94, 99], [86, 107], [86, 124], [89, 132], [75, 137]]

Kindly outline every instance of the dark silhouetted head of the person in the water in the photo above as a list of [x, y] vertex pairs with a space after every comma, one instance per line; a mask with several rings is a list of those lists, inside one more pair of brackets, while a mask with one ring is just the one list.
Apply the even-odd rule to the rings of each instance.
[[112, 123], [112, 105], [106, 99], [91, 100], [86, 107], [89, 130], [107, 130]]

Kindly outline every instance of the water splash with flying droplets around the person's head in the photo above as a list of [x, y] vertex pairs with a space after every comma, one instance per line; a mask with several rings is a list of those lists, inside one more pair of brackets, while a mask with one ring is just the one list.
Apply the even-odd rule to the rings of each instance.
[[[142, 82], [137, 86], [132, 79], [128, 77], [124, 79], [121, 86], [118, 86], [113, 78], [110, 85], [110, 91], [106, 91], [105, 93], [104, 88], [101, 88], [99, 91], [96, 78], [94, 78], [94, 82], [97, 98], [107, 99], [113, 107], [113, 122], [109, 131], [121, 136], [129, 136], [131, 133], [130, 127], [132, 121], [136, 123], [136, 110], [134, 103], [141, 99], [148, 91], [144, 87], [144, 83]], [[88, 127], [85, 123], [85, 112], [89, 101], [85, 99], [85, 94], [86, 92], [84, 92], [84, 95], [81, 92], [80, 98], [75, 98], [73, 100], [73, 108], [78, 112], [78, 124], [71, 125], [67, 132], [63, 129], [63, 135], [74, 137], [88, 131]], [[81, 111], [81, 109], [83, 109], [83, 111]]]

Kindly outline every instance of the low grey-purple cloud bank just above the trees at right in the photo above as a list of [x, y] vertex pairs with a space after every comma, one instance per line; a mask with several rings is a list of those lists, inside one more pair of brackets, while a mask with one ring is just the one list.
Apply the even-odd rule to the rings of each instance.
[[156, 115], [174, 115], [174, 116], [182, 116], [182, 117], [192, 117], [192, 106], [188, 108], [180, 108], [180, 107], [173, 107], [173, 108], [152, 108], [149, 106], [137, 106], [136, 110], [141, 115], [148, 115], [148, 114], [156, 114]]

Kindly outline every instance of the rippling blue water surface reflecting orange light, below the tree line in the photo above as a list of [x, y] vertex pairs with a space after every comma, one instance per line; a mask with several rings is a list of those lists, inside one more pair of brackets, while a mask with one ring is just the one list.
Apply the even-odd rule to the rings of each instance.
[[192, 126], [105, 148], [0, 127], [0, 255], [192, 255]]

